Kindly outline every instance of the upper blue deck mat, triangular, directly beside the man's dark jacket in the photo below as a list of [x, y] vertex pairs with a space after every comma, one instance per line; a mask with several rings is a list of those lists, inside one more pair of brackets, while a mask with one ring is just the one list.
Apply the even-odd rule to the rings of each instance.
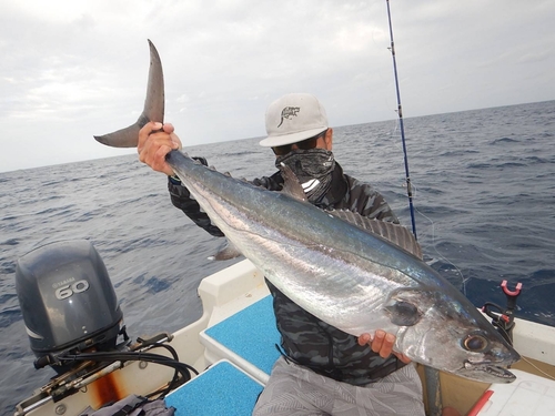
[[270, 374], [280, 353], [280, 333], [269, 295], [235, 315], [208, 328], [205, 334]]

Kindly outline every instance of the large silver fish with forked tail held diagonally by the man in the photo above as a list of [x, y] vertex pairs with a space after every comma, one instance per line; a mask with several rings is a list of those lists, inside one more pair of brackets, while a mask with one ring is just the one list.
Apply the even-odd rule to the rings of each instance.
[[[162, 79], [161, 65], [151, 65], [150, 77]], [[109, 135], [108, 144], [117, 145], [120, 135], [129, 145], [125, 129]], [[396, 352], [458, 376], [486, 383], [515, 379], [506, 367], [519, 355], [458, 290], [422, 262], [405, 229], [354, 215], [356, 225], [347, 215], [302, 201], [287, 169], [285, 192], [278, 193], [178, 151], [168, 163], [228, 240], [322, 321], [355, 336], [382, 328], [396, 335]]]

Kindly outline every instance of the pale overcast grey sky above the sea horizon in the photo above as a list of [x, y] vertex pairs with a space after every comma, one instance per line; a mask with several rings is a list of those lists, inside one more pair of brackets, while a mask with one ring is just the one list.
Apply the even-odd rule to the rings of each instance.
[[[555, 1], [391, 0], [404, 116], [555, 99]], [[184, 145], [264, 134], [311, 92], [331, 125], [396, 118], [385, 0], [0, 0], [0, 171], [107, 158], [149, 70]]]

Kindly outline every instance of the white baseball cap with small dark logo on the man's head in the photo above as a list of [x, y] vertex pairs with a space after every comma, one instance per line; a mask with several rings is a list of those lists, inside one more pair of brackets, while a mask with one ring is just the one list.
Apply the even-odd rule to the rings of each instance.
[[265, 148], [297, 143], [327, 129], [325, 110], [312, 94], [292, 93], [272, 102], [266, 110]]

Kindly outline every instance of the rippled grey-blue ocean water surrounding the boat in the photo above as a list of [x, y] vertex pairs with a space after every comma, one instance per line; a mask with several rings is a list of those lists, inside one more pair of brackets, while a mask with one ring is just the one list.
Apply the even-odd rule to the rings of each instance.
[[[555, 325], [555, 101], [405, 119], [416, 230], [430, 264], [470, 300], [504, 304], [522, 282], [517, 316]], [[92, 136], [91, 136], [92, 140]], [[185, 148], [218, 170], [274, 172], [258, 139]], [[377, 187], [410, 226], [397, 121], [334, 129], [346, 173]], [[236, 261], [174, 209], [163, 175], [137, 156], [0, 173], [0, 415], [53, 375], [36, 371], [16, 288], [18, 257], [85, 239], [107, 264], [132, 337], [201, 316], [199, 282]]]

